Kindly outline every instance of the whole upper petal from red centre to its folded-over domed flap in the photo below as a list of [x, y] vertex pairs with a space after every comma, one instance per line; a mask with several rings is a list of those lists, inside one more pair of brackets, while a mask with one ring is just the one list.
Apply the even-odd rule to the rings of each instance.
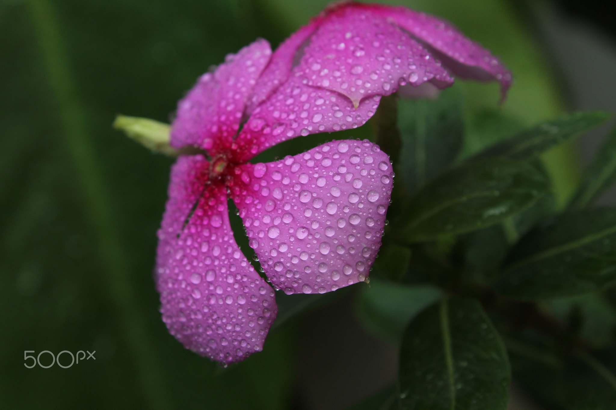
[[[299, 33], [283, 44], [290, 68], [286, 47], [299, 47], [305, 38], [299, 65], [251, 112], [237, 138], [243, 160], [296, 136], [359, 127], [373, 116], [381, 96], [401, 84], [431, 82], [441, 89], [453, 84], [447, 70], [407, 32], [354, 4], [332, 7]], [[274, 63], [282, 64], [273, 57]], [[257, 89], [272, 81], [264, 74]]]

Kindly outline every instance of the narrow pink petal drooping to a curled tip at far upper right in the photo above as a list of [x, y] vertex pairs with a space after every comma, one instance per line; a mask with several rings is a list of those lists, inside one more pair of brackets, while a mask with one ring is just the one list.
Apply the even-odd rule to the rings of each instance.
[[428, 44], [431, 52], [435, 52], [434, 57], [439, 58], [443, 65], [457, 76], [480, 81], [499, 81], [503, 100], [505, 99], [511, 85], [511, 72], [492, 53], [464, 36], [450, 23], [406, 7], [376, 4], [362, 7], [387, 17]]

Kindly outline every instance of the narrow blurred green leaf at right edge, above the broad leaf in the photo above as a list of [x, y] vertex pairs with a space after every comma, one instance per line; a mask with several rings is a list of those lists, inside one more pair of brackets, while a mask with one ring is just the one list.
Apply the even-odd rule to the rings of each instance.
[[588, 207], [616, 181], [616, 129], [607, 136], [584, 175], [570, 209]]

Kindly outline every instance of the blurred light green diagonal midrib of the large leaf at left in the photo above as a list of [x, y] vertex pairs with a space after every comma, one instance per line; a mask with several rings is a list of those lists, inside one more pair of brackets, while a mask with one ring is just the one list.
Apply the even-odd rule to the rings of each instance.
[[144, 325], [144, 315], [140, 312], [136, 292], [129, 279], [129, 262], [111, 212], [107, 184], [87, 131], [83, 104], [79, 101], [71, 77], [54, 6], [48, 0], [29, 0], [28, 6], [51, 90], [57, 101], [62, 137], [75, 167], [86, 217], [96, 235], [99, 257], [106, 272], [103, 281], [120, 320], [138, 380], [150, 408], [171, 408], [156, 352]]

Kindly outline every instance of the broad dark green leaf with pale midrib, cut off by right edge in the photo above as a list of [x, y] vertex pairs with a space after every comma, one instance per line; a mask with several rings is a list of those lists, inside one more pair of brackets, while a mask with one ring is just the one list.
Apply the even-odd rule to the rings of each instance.
[[522, 299], [575, 296], [616, 280], [616, 208], [567, 213], [511, 251], [501, 292]]

